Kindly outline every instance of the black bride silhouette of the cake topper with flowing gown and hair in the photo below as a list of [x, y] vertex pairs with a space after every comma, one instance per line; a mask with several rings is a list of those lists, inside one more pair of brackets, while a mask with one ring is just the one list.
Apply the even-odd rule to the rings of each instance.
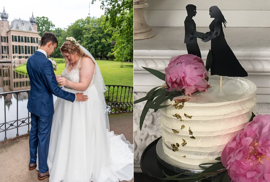
[[217, 6], [209, 8], [210, 18], [214, 20], [209, 25], [210, 35], [203, 42], [211, 40], [212, 65], [211, 75], [220, 76], [248, 76], [235, 57], [232, 49], [225, 40], [222, 23], [226, 27], [226, 20]]

